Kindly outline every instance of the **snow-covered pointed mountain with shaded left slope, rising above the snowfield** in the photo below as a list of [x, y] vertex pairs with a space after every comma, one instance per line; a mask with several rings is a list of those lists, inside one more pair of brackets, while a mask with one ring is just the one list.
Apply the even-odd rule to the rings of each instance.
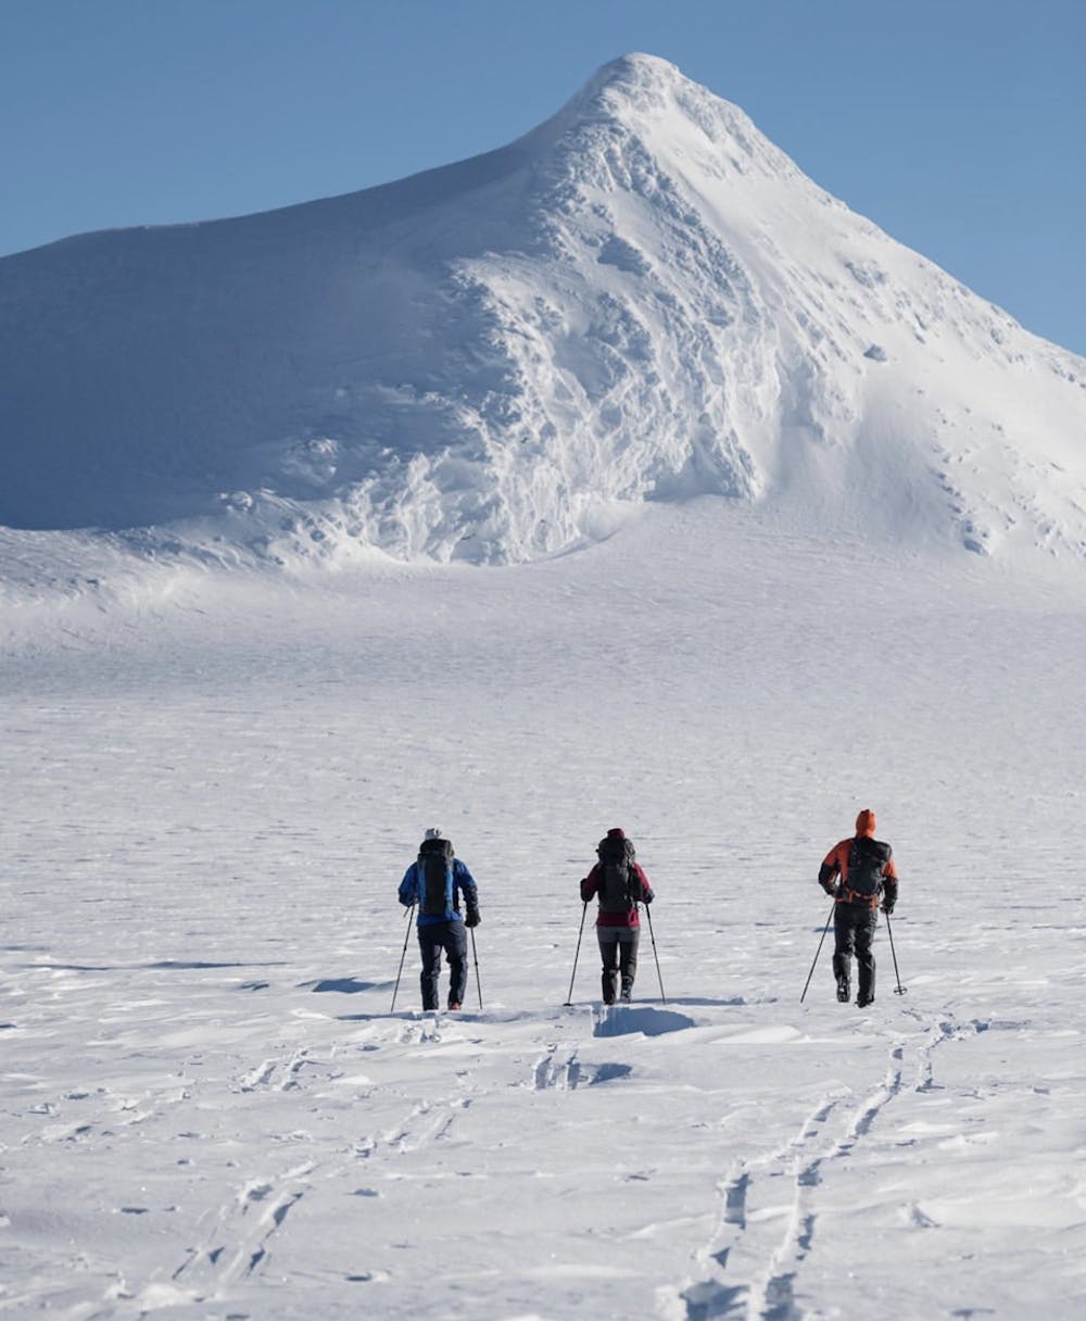
[[717, 494], [1086, 555], [1086, 362], [647, 55], [473, 160], [7, 258], [0, 354], [16, 528], [493, 563]]

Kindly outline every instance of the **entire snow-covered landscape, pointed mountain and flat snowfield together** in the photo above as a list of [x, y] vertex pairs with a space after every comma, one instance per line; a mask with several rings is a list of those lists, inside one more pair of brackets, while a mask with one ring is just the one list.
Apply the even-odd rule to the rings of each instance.
[[[629, 57], [7, 258], [0, 361], [0, 1310], [1078, 1321], [1082, 359]], [[861, 807], [896, 962], [801, 1003]]]

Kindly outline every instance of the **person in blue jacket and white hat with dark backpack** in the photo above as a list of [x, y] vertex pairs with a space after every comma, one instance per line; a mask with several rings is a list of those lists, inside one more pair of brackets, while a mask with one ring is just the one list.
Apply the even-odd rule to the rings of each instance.
[[[460, 897], [464, 897], [464, 914]], [[441, 951], [449, 960], [449, 1008], [458, 1009], [468, 989], [468, 934], [478, 926], [478, 886], [465, 863], [453, 856], [453, 847], [436, 826], [425, 832], [417, 861], [404, 872], [399, 890], [404, 908], [419, 906], [416, 919], [423, 955], [423, 1009], [437, 1008], [437, 975]]]

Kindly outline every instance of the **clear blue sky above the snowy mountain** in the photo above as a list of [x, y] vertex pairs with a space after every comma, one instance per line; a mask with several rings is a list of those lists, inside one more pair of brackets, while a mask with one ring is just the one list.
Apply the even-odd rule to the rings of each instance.
[[643, 50], [1086, 353], [1086, 0], [0, 0], [0, 254], [510, 141]]

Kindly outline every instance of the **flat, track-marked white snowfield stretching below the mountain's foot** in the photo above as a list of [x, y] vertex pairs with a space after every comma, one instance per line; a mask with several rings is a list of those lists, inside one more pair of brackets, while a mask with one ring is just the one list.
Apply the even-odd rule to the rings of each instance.
[[[1079, 572], [706, 499], [501, 569], [12, 597], [0, 1309], [1081, 1317]], [[881, 923], [876, 1003], [823, 948], [801, 1005], [868, 806], [906, 993]], [[432, 824], [461, 1013], [396, 904]], [[655, 951], [605, 1008], [587, 926], [565, 1005], [612, 826]]]

